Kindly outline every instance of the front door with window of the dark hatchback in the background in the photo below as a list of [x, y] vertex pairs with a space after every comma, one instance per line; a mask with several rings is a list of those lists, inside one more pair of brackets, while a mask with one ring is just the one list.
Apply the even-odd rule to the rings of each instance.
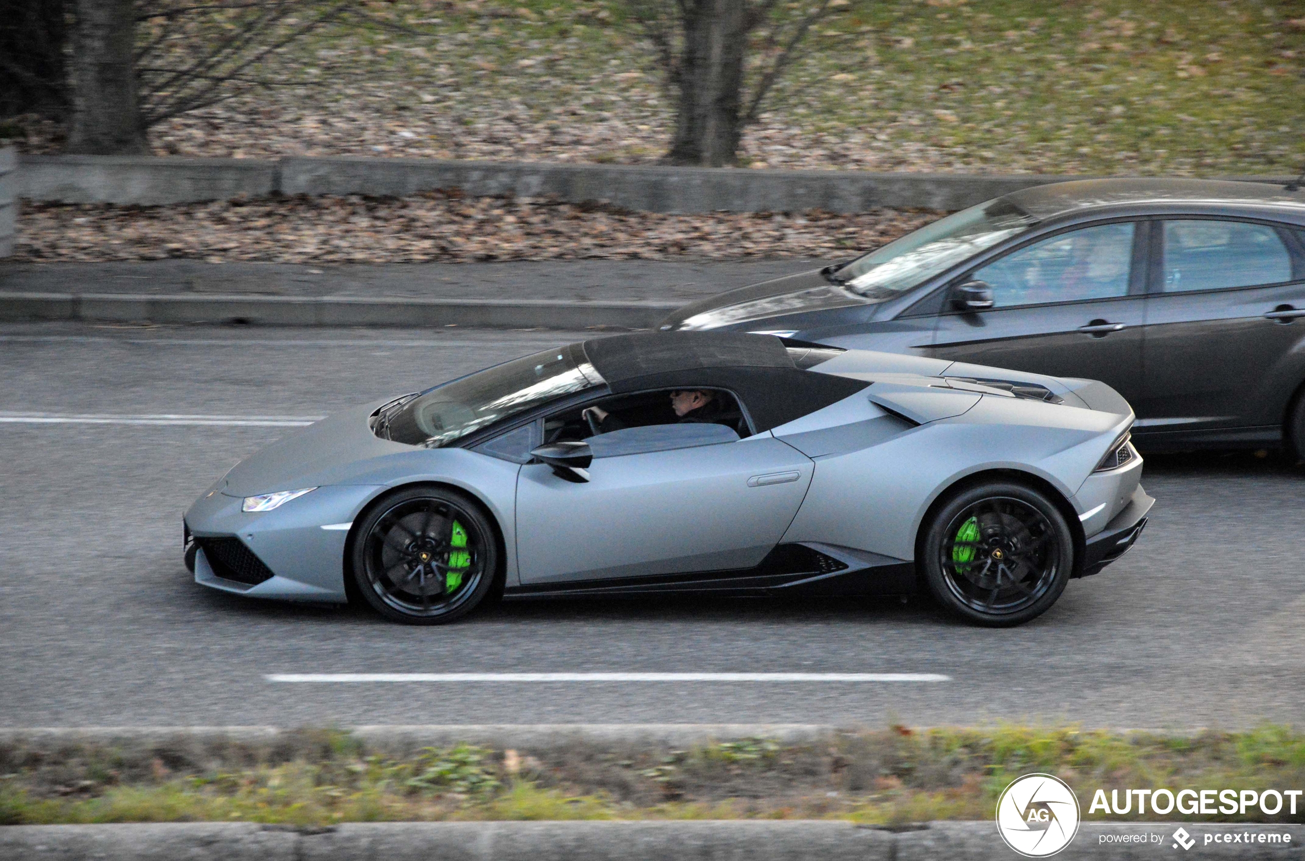
[[953, 284], [981, 280], [993, 307], [938, 316], [930, 355], [1101, 380], [1142, 393], [1146, 231], [1134, 220], [1074, 227], [1027, 243]]

